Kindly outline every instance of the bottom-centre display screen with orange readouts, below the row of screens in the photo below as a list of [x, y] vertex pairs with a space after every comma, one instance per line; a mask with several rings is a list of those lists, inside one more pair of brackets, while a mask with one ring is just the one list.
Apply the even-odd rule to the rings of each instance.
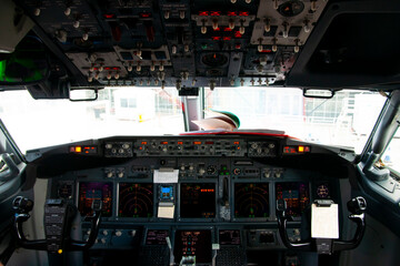
[[182, 256], [196, 256], [196, 263], [211, 263], [211, 231], [177, 231], [173, 248], [179, 265]]

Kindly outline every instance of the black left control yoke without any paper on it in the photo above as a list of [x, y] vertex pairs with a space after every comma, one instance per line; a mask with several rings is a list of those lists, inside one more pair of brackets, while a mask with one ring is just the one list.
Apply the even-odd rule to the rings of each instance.
[[84, 250], [90, 248], [98, 236], [101, 218], [101, 200], [92, 203], [93, 215], [84, 219], [91, 222], [90, 235], [87, 242], [70, 238], [70, 223], [77, 211], [63, 200], [47, 200], [44, 204], [44, 233], [46, 239], [28, 241], [22, 231], [22, 224], [30, 218], [29, 212], [33, 209], [33, 202], [17, 196], [12, 202], [14, 209], [14, 232], [18, 244], [27, 249], [48, 250], [61, 254], [63, 250]]

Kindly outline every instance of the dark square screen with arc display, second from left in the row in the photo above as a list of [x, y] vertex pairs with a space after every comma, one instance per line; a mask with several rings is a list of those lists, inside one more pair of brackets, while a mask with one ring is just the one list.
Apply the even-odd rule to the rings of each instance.
[[118, 216], [148, 218], [153, 215], [153, 184], [120, 183]]

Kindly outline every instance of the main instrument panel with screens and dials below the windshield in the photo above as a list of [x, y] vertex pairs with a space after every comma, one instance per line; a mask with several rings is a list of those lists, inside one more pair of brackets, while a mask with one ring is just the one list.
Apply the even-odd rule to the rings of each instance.
[[[84, 151], [86, 145], [79, 145]], [[310, 203], [331, 198], [340, 204], [340, 176], [282, 164], [288, 157], [298, 161], [299, 149], [279, 137], [107, 139], [90, 145], [98, 156], [77, 156], [71, 145], [67, 154], [102, 160], [103, 165], [54, 176], [48, 196], [69, 201], [82, 217], [91, 215], [94, 198], [102, 200], [101, 229], [93, 250], [136, 246], [143, 254], [157, 249], [177, 264], [196, 255], [197, 264], [208, 265], [217, 252], [213, 244], [219, 244], [217, 260], [231, 265], [234, 256], [244, 262], [248, 250], [284, 249], [277, 200], [287, 202], [293, 221], [288, 234], [293, 241], [300, 241], [301, 221]], [[312, 154], [316, 147], [300, 150]], [[89, 231], [83, 222], [83, 239]]]

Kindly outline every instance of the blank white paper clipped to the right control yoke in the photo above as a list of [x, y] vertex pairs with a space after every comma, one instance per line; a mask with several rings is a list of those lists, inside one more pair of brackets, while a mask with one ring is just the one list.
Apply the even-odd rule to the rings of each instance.
[[311, 207], [311, 237], [312, 238], [339, 238], [339, 212], [338, 204], [329, 207]]

